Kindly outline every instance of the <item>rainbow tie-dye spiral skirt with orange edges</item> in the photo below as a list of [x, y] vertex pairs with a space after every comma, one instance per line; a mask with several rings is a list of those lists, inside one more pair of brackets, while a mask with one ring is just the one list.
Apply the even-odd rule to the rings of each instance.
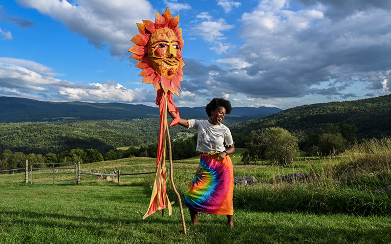
[[196, 212], [233, 215], [234, 167], [229, 156], [221, 162], [216, 158], [217, 155], [201, 154], [185, 203]]

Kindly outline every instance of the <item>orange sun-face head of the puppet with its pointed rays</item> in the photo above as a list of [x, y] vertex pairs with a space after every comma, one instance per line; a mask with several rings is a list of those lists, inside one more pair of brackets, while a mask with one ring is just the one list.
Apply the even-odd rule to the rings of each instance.
[[[144, 83], [153, 84], [155, 91], [162, 88], [165, 93], [171, 91], [179, 96], [178, 87], [181, 90], [180, 81], [183, 81], [182, 68], [185, 63], [181, 55], [184, 42], [182, 29], [178, 28], [178, 23], [179, 15], [173, 18], [169, 8], [166, 9], [163, 15], [156, 12], [155, 22], [143, 20], [143, 23], [137, 23], [140, 34], [131, 39], [135, 45], [129, 49], [129, 52], [133, 53], [130, 56], [131, 58], [138, 60], [136, 67], [143, 69], [139, 76], [143, 76]], [[171, 33], [174, 33], [175, 37]], [[162, 35], [164, 35], [163, 39], [174, 40], [171, 42], [177, 43], [174, 46], [175, 50], [172, 49], [173, 47], [165, 46], [164, 43], [160, 44], [161, 46], [151, 43], [154, 40], [157, 40], [154, 42], [161, 41], [159, 38]], [[168, 44], [170, 45], [171, 43]], [[169, 52], [167, 52], [167, 49]], [[167, 53], [171, 53], [171, 50], [174, 50], [176, 57], [171, 57], [169, 61], [161, 61], [163, 60], [161, 58], [153, 59], [156, 56], [168, 57]], [[153, 60], [158, 61], [155, 61], [153, 64]]]

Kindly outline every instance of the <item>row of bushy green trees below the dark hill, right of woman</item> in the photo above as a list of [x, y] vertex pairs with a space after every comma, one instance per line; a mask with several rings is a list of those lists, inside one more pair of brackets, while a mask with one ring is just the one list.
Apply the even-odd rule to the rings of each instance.
[[233, 134], [239, 139], [240, 147], [247, 148], [242, 154], [242, 162], [268, 162], [288, 165], [298, 156], [299, 149], [306, 156], [338, 155], [357, 142], [357, 126], [340, 122], [327, 123], [315, 133], [305, 135], [303, 131], [289, 132], [281, 127], [253, 130], [248, 137]]

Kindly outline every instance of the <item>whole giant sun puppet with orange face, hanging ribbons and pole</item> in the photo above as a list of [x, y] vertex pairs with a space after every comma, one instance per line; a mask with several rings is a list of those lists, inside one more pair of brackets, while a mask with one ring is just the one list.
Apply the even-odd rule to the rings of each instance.
[[[183, 230], [186, 234], [182, 203], [173, 182], [171, 142], [168, 130], [168, 126], [176, 125], [180, 120], [178, 109], [174, 105], [172, 97], [173, 94], [179, 96], [178, 88], [181, 90], [180, 81], [183, 81], [182, 67], [185, 65], [181, 54], [183, 47], [182, 29], [178, 28], [178, 23], [179, 15], [173, 18], [169, 8], [166, 9], [163, 15], [156, 12], [155, 22], [143, 20], [143, 23], [137, 23], [140, 34], [131, 39], [135, 45], [129, 49], [129, 52], [133, 53], [131, 58], [138, 60], [136, 67], [143, 69], [139, 74], [139, 76], [143, 76], [143, 82], [153, 84], [155, 91], [157, 91], [156, 104], [160, 109], [156, 175], [150, 205], [143, 219], [157, 211], [163, 211], [166, 207], [169, 209], [169, 215], [172, 213], [172, 203], [170, 203], [166, 193], [167, 170], [165, 157], [167, 134], [170, 180], [178, 198]], [[177, 114], [171, 124], [167, 122], [167, 111], [174, 111]]]

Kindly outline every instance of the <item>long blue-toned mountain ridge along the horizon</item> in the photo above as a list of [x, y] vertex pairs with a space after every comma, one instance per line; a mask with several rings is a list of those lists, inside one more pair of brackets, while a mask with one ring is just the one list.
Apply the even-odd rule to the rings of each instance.
[[[282, 111], [270, 107], [235, 107], [228, 123], [262, 118]], [[182, 118], [205, 118], [205, 107], [181, 107]], [[132, 120], [158, 118], [158, 107], [126, 103], [42, 102], [26, 98], [0, 97], [0, 122], [52, 122], [86, 120]]]

